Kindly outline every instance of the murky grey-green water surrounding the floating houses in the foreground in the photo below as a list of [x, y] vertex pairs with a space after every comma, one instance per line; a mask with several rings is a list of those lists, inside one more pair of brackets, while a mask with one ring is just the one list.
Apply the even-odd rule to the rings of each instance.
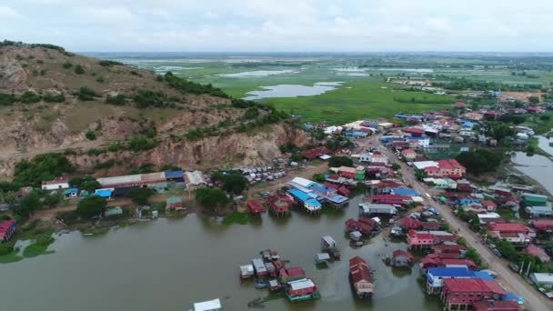
[[[189, 215], [158, 219], [103, 236], [61, 236], [55, 253], [0, 266], [0, 304], [10, 311], [187, 310], [193, 302], [222, 298], [226, 310], [247, 310], [247, 302], [266, 296], [238, 278], [238, 266], [272, 248], [302, 266], [319, 287], [317, 301], [272, 300], [265, 310], [438, 310], [437, 298], [425, 296], [418, 267], [385, 266], [404, 243], [376, 237], [358, 249], [347, 246], [344, 222], [357, 216], [354, 198], [342, 212], [320, 217], [294, 213], [287, 219], [264, 215], [250, 225], [223, 226], [216, 219]], [[314, 255], [320, 236], [331, 235], [342, 261], [317, 269]], [[356, 301], [348, 283], [347, 259], [363, 256], [376, 269], [372, 302]]]

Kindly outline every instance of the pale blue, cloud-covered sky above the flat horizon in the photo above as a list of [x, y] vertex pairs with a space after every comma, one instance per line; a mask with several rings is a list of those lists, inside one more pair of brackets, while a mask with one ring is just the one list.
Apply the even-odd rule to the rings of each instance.
[[3, 0], [0, 40], [75, 52], [553, 52], [551, 0]]

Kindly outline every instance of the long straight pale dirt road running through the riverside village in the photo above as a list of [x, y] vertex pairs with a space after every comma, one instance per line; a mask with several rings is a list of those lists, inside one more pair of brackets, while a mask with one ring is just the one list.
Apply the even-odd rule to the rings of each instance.
[[498, 276], [500, 276], [500, 282], [504, 286], [514, 289], [514, 291], [516, 291], [520, 296], [524, 297], [525, 306], [527, 306], [528, 309], [535, 311], [553, 310], [553, 302], [548, 301], [545, 296], [542, 296], [525, 280], [511, 271], [507, 266], [507, 262], [505, 260], [500, 260], [498, 256], [495, 256], [487, 246], [483, 245], [480, 242], [480, 237], [470, 230], [465, 222], [457, 218], [457, 216], [453, 214], [450, 207], [439, 204], [437, 201], [427, 196], [427, 194], [429, 194], [429, 188], [423, 183], [417, 181], [413, 168], [399, 161], [397, 156], [391, 150], [379, 143], [377, 144], [381, 146], [381, 149], [391, 161], [395, 161], [401, 165], [401, 173], [404, 178], [404, 182], [417, 190], [420, 196], [423, 196], [425, 203], [428, 206], [436, 207], [441, 216], [444, 217], [452, 228], [459, 230], [459, 235], [465, 237], [467, 245], [474, 247], [478, 254], [482, 257], [482, 260], [488, 264], [489, 269], [498, 273]]

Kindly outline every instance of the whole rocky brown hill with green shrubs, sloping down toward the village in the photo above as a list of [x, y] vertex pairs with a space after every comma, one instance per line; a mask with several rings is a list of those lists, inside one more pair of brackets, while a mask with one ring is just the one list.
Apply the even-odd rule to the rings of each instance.
[[0, 42], [0, 176], [64, 153], [83, 172], [257, 165], [311, 138], [270, 106], [55, 45]]

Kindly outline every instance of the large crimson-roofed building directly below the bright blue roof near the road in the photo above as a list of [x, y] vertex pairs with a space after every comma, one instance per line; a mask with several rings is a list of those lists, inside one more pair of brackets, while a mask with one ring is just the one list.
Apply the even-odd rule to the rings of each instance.
[[450, 310], [452, 306], [472, 306], [480, 301], [499, 300], [505, 294], [507, 292], [495, 281], [478, 278], [447, 278], [444, 279], [441, 298]]

